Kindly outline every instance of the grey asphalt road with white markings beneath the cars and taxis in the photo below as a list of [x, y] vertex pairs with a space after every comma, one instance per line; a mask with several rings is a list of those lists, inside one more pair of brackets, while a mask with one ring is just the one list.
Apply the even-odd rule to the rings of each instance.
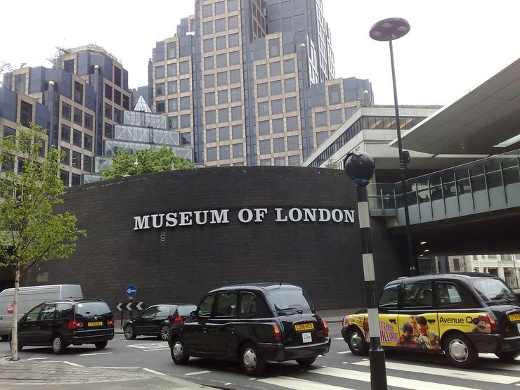
[[[332, 348], [311, 368], [301, 369], [290, 361], [272, 363], [261, 377], [242, 374], [238, 363], [190, 358], [187, 365], [174, 365], [167, 342], [154, 337], [126, 340], [116, 334], [106, 349], [93, 346], [69, 346], [63, 355], [50, 349], [25, 347], [22, 359], [45, 359], [83, 367], [145, 370], [157, 375], [180, 377], [190, 382], [219, 389], [370, 389], [368, 359], [353, 356], [340, 334], [341, 324], [330, 324]], [[9, 354], [6, 342], [0, 343], [0, 356]], [[472, 370], [453, 368], [444, 356], [420, 353], [386, 352], [386, 377], [389, 389], [519, 389], [520, 358], [502, 363], [494, 355], [481, 354]]]

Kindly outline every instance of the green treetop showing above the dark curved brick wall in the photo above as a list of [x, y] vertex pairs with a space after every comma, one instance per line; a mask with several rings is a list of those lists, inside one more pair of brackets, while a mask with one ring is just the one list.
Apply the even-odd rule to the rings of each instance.
[[133, 154], [119, 150], [117, 156], [112, 158], [112, 168], [103, 169], [102, 173], [103, 180], [108, 180], [123, 176], [192, 168], [195, 168], [193, 162], [176, 156], [171, 148], [162, 145], [160, 150], [138, 150]]

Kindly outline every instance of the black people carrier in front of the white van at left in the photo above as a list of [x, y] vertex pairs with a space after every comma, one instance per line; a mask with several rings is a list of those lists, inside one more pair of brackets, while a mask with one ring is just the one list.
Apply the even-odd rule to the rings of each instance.
[[60, 354], [70, 344], [103, 349], [114, 338], [114, 324], [112, 311], [100, 299], [46, 301], [18, 321], [18, 350], [51, 346]]

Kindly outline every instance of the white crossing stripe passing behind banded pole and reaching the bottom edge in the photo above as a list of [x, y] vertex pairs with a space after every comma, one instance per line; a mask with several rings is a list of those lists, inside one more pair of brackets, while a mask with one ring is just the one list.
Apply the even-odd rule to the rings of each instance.
[[[427, 367], [425, 367], [427, 369]], [[361, 382], [370, 382], [370, 372], [360, 372], [353, 370], [344, 370], [343, 368], [318, 368], [317, 370], [308, 370], [313, 374], [329, 375], [343, 379], [353, 379]], [[425, 372], [423, 372], [425, 373]], [[421, 390], [473, 390], [472, 387], [451, 386], [450, 384], [440, 384], [436, 382], [425, 382], [416, 379], [406, 379], [401, 377], [386, 376], [386, 383], [389, 386], [396, 386], [401, 389], [421, 389]]]

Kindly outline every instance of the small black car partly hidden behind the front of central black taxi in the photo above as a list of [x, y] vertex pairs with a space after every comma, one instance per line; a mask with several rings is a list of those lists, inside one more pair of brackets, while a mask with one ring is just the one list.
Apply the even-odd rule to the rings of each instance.
[[193, 304], [160, 304], [146, 308], [145, 311], [124, 324], [124, 337], [134, 340], [137, 336], [157, 336], [166, 341], [170, 327], [182, 323], [197, 306]]

